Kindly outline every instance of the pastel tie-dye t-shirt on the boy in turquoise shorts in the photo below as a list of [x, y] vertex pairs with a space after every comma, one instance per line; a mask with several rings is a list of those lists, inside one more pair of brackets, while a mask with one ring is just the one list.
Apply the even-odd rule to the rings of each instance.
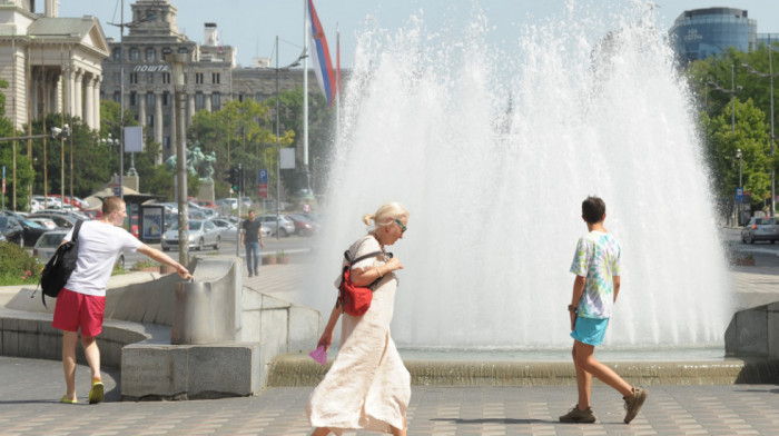
[[590, 231], [579, 239], [571, 272], [586, 277], [576, 306], [584, 318], [610, 318], [614, 306], [614, 276], [620, 275], [620, 244], [611, 234]]

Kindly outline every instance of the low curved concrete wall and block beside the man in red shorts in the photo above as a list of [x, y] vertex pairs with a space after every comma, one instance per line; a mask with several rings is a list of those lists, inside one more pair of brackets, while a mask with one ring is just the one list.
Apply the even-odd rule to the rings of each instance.
[[[234, 270], [241, 270], [239, 258], [208, 256], [208, 260], [218, 258], [237, 261]], [[322, 328], [318, 311], [243, 287], [240, 274], [231, 279], [240, 289], [236, 341], [171, 345], [178, 275], [136, 272], [111, 278], [98, 346], [102, 364], [121, 369], [122, 398], [252, 395], [266, 385], [269, 364], [278, 354], [316, 343]], [[0, 350], [4, 356], [59, 360], [62, 334], [51, 327], [55, 303], [48, 299], [47, 309], [39, 294], [30, 298], [32, 293], [22, 288], [0, 307]], [[86, 363], [78, 349], [79, 361]]]

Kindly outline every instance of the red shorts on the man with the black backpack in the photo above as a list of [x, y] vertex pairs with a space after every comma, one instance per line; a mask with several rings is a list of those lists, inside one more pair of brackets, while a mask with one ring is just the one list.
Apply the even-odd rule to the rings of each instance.
[[106, 297], [73, 293], [62, 288], [57, 296], [55, 320], [51, 327], [67, 331], [78, 331], [81, 327], [81, 335], [97, 336], [102, 331], [105, 311]]

